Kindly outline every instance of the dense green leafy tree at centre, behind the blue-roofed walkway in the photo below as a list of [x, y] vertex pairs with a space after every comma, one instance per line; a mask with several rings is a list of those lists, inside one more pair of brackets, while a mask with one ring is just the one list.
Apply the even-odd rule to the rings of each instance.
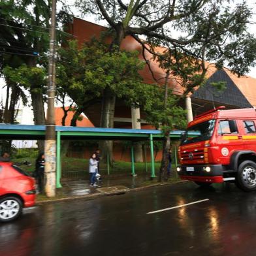
[[[105, 101], [106, 92], [113, 100], [118, 97], [129, 106], [136, 101], [145, 101], [142, 91], [147, 89], [138, 74], [144, 63], [138, 59], [138, 52], [120, 51], [114, 46], [109, 51], [107, 44], [93, 39], [81, 47], [71, 40], [65, 48], [59, 48], [58, 54], [57, 87], [62, 88], [77, 105], [71, 125], [75, 125], [78, 116], [81, 112], [86, 113], [89, 106]], [[114, 122], [114, 110], [109, 110], [103, 104], [102, 127], [108, 127], [105, 121]], [[110, 142], [106, 144], [104, 153], [111, 148]]]

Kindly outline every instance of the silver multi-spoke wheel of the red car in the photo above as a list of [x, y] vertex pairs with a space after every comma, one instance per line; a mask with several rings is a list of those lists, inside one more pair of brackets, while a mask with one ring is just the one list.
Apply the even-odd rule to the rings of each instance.
[[22, 214], [22, 202], [17, 197], [0, 199], [0, 221], [7, 222], [16, 219]]

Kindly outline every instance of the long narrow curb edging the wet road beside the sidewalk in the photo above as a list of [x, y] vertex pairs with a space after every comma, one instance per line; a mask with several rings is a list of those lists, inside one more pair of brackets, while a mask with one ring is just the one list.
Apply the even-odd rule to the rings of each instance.
[[[166, 186], [166, 185], [176, 185], [176, 184], [182, 184], [182, 183], [186, 183], [188, 182], [187, 180], [180, 180], [178, 182], [173, 182], [173, 183], [163, 183], [163, 184], [151, 184], [151, 185], [146, 185], [144, 187], [135, 187], [133, 189], [127, 189], [127, 191], [125, 191], [124, 193], [129, 193], [129, 192], [133, 192], [133, 191], [140, 191], [140, 190], [144, 190], [144, 189], [150, 189], [152, 187], [162, 187], [162, 186]], [[42, 201], [37, 201], [36, 200], [36, 204], [40, 205], [40, 204], [44, 204], [44, 203], [49, 203], [49, 202], [61, 202], [61, 201], [65, 201], [65, 200], [72, 200], [72, 199], [95, 199], [97, 197], [101, 197], [101, 196], [112, 196], [112, 195], [121, 195], [124, 194], [123, 191], [122, 193], [110, 193], [110, 194], [106, 194], [106, 193], [93, 193], [91, 195], [76, 195], [74, 197], [63, 197], [61, 199], [53, 199], [53, 200], [42, 200]]]

